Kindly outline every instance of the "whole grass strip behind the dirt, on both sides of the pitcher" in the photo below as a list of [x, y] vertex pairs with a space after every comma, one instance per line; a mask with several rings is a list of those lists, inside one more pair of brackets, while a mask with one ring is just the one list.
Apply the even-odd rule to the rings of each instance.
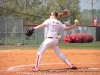
[[[38, 49], [40, 45], [0, 45], [0, 50], [29, 50]], [[90, 49], [100, 50], [100, 42], [59, 44], [61, 49]], [[51, 49], [51, 48], [50, 48]]]

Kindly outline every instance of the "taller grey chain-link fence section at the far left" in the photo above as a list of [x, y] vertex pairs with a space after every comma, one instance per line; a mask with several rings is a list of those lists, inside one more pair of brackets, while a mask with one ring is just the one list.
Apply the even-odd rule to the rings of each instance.
[[23, 18], [0, 17], [0, 44], [23, 42]]

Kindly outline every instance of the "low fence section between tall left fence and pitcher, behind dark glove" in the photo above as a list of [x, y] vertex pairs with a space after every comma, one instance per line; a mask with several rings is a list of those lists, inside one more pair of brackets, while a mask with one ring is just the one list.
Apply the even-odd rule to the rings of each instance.
[[[33, 26], [29, 26], [29, 25], [24, 26], [24, 32], [26, 29], [29, 29], [30, 27]], [[39, 30], [35, 30], [32, 36], [25, 35], [24, 44], [36, 45], [36, 44], [40, 44], [43, 40], [44, 40], [44, 29], [39, 29]]]

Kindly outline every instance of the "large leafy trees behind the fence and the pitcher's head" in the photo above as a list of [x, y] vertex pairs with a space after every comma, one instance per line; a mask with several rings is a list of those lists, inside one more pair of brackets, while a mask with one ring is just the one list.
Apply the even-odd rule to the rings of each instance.
[[[49, 18], [52, 11], [69, 9], [70, 16], [59, 18], [61, 22], [69, 21], [73, 24], [78, 19], [82, 24], [90, 24], [91, 17], [86, 17], [91, 15], [91, 11], [80, 11], [79, 3], [80, 0], [0, 0], [0, 16], [23, 17], [24, 24], [40, 24]], [[96, 11], [97, 16], [98, 13], [100, 10]]]

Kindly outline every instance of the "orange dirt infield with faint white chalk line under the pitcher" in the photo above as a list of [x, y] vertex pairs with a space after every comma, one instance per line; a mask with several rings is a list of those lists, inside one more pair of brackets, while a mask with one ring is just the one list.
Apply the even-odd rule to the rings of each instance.
[[100, 50], [61, 50], [71, 63], [78, 67], [71, 70], [53, 50], [42, 56], [40, 71], [32, 72], [37, 50], [0, 51], [0, 75], [99, 75]]

